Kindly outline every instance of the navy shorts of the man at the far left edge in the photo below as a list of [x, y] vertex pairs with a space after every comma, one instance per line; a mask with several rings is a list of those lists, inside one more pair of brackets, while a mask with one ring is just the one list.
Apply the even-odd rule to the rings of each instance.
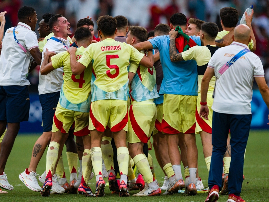
[[28, 86], [0, 86], [0, 120], [8, 123], [28, 121]]

